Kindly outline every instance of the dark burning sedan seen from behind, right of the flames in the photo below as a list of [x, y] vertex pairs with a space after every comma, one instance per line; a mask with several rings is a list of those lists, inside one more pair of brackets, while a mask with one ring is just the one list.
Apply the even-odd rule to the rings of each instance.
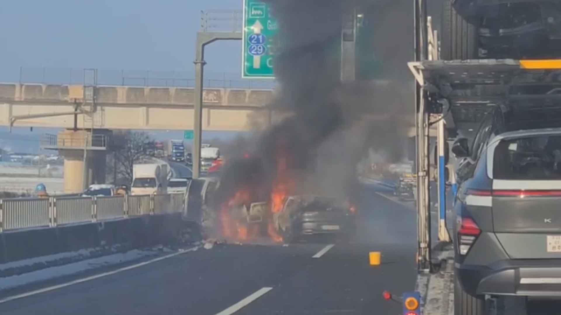
[[274, 223], [287, 243], [306, 235], [330, 234], [348, 239], [356, 233], [356, 208], [331, 197], [291, 196], [274, 214]]

